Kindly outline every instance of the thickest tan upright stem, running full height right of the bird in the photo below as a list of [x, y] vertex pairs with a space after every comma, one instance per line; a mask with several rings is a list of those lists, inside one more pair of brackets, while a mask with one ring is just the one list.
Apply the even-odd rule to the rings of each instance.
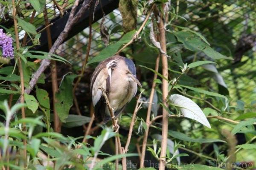
[[[161, 7], [164, 8], [165, 4]], [[156, 9], [156, 8], [155, 8]], [[155, 10], [156, 14], [160, 14], [160, 19], [158, 23], [159, 29], [159, 40], [160, 46], [163, 52], [166, 54], [166, 34], [164, 27], [164, 17], [165, 14]], [[168, 96], [168, 61], [165, 54], [161, 54], [162, 59], [162, 74], [166, 79], [162, 79], [162, 93], [163, 93], [163, 105], [168, 107], [167, 96]], [[167, 148], [167, 139], [168, 139], [168, 111], [163, 107], [163, 121], [162, 121], [162, 142], [161, 142], [161, 153], [159, 159], [159, 170], [164, 170], [166, 166], [166, 148]]]

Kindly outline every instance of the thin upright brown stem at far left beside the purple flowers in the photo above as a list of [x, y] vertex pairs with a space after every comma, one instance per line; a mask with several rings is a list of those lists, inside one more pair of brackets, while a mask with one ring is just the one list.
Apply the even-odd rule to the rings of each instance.
[[[18, 34], [18, 28], [17, 28], [17, 19], [16, 19], [16, 7], [15, 7], [15, 0], [12, 0], [12, 9], [13, 9], [13, 21], [14, 21], [14, 29], [15, 29], [15, 40], [16, 40], [16, 48], [17, 51], [20, 50], [20, 41], [19, 41], [19, 34]], [[18, 57], [18, 64], [19, 64], [19, 71], [20, 71], [20, 86], [21, 86], [21, 98], [20, 102], [24, 103], [24, 76], [23, 76], [23, 68], [22, 68], [22, 62], [20, 57]], [[26, 118], [25, 115], [25, 108], [24, 106], [21, 108], [21, 116], [23, 119]], [[23, 123], [23, 130], [26, 130], [26, 123]], [[24, 159], [24, 168], [26, 167], [26, 139], [23, 139], [23, 159]], [[7, 168], [9, 169], [9, 168]]]

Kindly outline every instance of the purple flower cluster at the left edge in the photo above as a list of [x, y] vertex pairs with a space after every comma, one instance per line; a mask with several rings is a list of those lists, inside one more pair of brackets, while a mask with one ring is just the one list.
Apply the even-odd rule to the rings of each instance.
[[3, 57], [13, 58], [12, 38], [7, 36], [3, 29], [0, 29], [0, 48], [2, 48]]

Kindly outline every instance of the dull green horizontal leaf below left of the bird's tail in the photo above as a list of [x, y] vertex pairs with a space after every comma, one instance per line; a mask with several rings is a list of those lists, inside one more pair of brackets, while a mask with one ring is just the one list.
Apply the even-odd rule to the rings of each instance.
[[77, 127], [77, 126], [81, 126], [81, 125], [84, 125], [84, 124], [90, 122], [90, 117], [70, 114], [70, 115], [68, 115], [68, 117], [65, 121], [66, 121], [66, 123], [63, 123], [62, 126]]

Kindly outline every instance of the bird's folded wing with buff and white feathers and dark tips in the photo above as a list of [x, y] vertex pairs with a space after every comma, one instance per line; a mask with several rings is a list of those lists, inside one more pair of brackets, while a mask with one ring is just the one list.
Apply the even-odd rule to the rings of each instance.
[[105, 60], [96, 67], [91, 79], [91, 94], [93, 98], [95, 117], [101, 121], [105, 119], [106, 102], [102, 91], [102, 87], [108, 95], [111, 83], [112, 69], [116, 66], [116, 59]]

